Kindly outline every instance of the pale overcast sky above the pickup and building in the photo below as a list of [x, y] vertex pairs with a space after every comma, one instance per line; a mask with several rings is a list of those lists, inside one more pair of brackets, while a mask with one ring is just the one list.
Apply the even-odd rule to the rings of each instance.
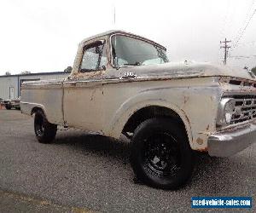
[[[220, 64], [219, 41], [234, 45], [254, 9], [255, 0], [0, 0], [0, 75], [63, 71], [84, 37], [111, 29], [163, 44], [172, 61]], [[256, 14], [230, 56], [230, 66], [256, 66]]]

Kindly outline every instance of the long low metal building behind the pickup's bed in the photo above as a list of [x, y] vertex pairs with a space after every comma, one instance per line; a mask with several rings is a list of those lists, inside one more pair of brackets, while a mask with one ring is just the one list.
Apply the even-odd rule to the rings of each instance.
[[39, 72], [0, 76], [0, 98], [14, 99], [20, 96], [20, 85], [25, 81], [66, 78], [70, 72]]

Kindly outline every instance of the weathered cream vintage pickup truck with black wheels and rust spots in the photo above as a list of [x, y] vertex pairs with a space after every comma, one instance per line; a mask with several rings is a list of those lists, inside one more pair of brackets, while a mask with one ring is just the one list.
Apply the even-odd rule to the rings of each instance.
[[256, 141], [252, 73], [207, 63], [170, 63], [166, 48], [121, 31], [84, 39], [69, 77], [21, 86], [39, 142], [57, 125], [131, 139], [131, 166], [152, 187], [191, 176], [193, 150], [227, 157]]

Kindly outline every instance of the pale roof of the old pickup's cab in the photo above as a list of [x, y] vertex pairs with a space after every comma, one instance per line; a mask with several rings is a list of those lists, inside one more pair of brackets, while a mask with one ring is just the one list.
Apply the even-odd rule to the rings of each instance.
[[131, 35], [131, 36], [134, 36], [134, 37], [139, 37], [139, 38], [142, 38], [143, 40], [148, 41], [149, 43], [154, 43], [155, 45], [159, 46], [161, 49], [165, 49], [166, 50], [166, 48], [163, 45], [161, 45], [160, 43], [155, 43], [154, 41], [152, 41], [152, 40], [150, 40], [150, 39], [148, 39], [146, 37], [141, 37], [141, 36], [138, 36], [138, 35], [133, 34], [131, 32], [125, 32], [125, 31], [120, 31], [120, 30], [111, 30], [111, 31], [107, 31], [107, 32], [102, 32], [102, 33], [96, 34], [96, 35], [94, 35], [92, 37], [86, 37], [86, 38], [84, 38], [82, 40], [81, 44], [85, 43], [85, 42], [88, 42], [88, 41], [90, 41], [92, 39], [95, 39], [96, 37], [111, 36], [111, 35], [113, 35], [115, 33], [122, 33], [122, 34], [126, 34], [126, 35]]

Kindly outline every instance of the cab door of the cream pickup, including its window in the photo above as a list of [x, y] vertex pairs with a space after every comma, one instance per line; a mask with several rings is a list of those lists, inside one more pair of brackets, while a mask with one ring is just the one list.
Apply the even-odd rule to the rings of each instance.
[[106, 40], [86, 43], [75, 78], [64, 82], [63, 112], [67, 126], [101, 131], [103, 123], [103, 67], [107, 64]]

